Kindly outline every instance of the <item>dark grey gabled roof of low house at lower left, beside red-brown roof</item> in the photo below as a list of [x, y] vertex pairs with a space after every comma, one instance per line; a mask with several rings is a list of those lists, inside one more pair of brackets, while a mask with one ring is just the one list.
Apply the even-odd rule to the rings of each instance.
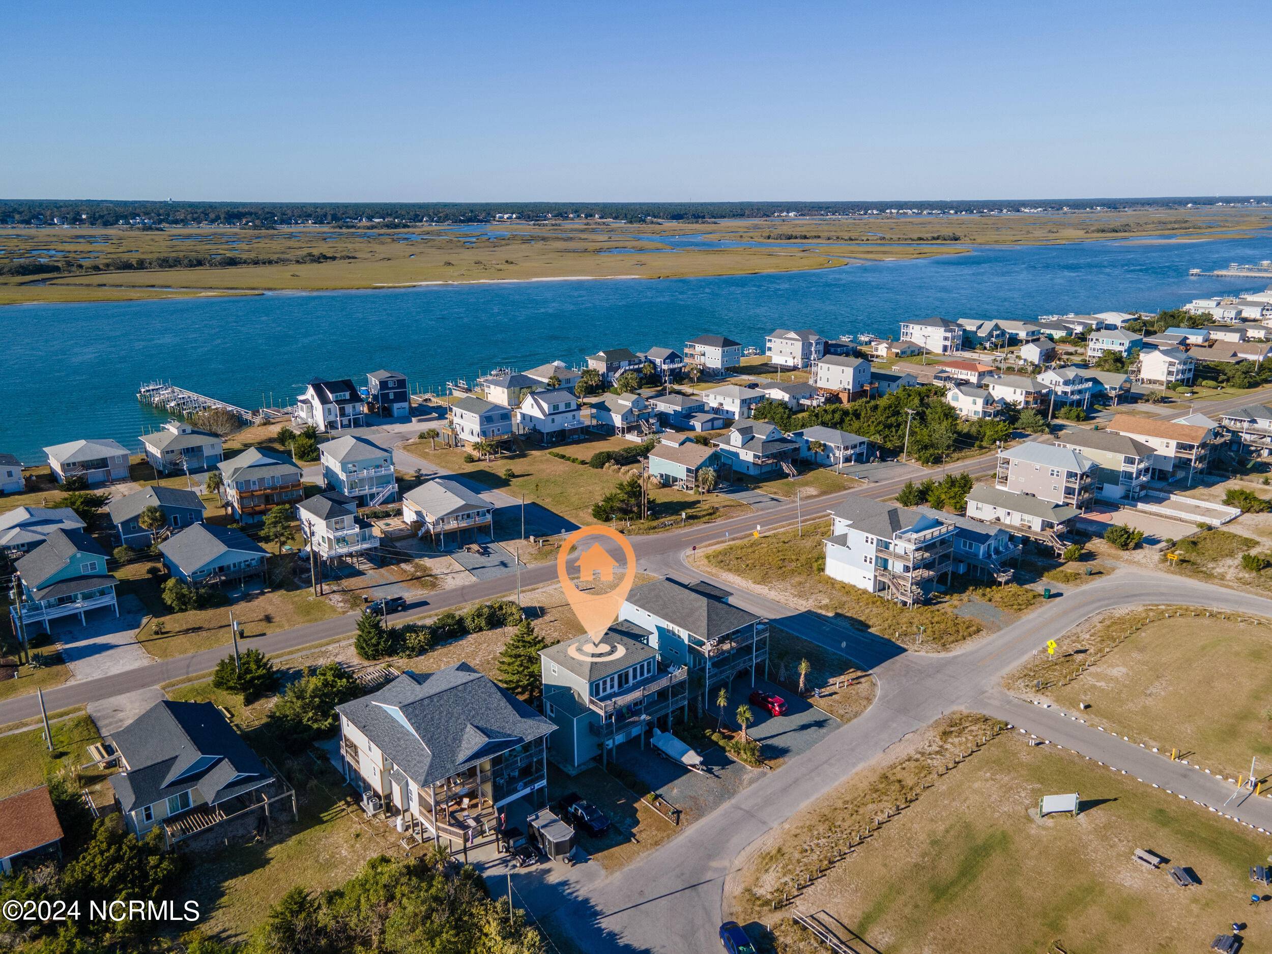
[[215, 805], [272, 776], [211, 702], [156, 702], [112, 735], [127, 771], [111, 776], [125, 812], [195, 789]]

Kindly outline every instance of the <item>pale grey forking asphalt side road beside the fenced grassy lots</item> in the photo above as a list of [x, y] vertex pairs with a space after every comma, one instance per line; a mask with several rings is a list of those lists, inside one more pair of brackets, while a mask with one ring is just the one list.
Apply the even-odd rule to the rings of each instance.
[[[850, 636], [852, 631], [833, 625], [808, 625], [806, 614], [754, 594], [739, 594], [738, 602], [829, 649], [842, 651], [841, 644], [848, 641], [854, 653], [885, 656], [873, 667], [879, 679], [878, 698], [864, 715], [613, 876], [603, 876], [595, 865], [561, 870], [543, 866], [537, 873], [514, 874], [520, 901], [528, 902], [538, 918], [547, 920], [551, 930], [571, 935], [580, 949], [714, 950], [725, 878], [744, 864], [757, 840], [907, 734], [954, 709], [1007, 719], [1112, 766], [1109, 771], [1124, 770], [1145, 780], [1146, 798], [1182, 795], [1220, 808], [1234, 786], [1071, 721], [1056, 710], [1014, 700], [1000, 689], [1000, 682], [1048, 639], [1105, 609], [1142, 603], [1196, 604], [1272, 616], [1272, 600], [1261, 597], [1164, 574], [1119, 570], [1113, 579], [1076, 588], [962, 651], [922, 655], [897, 651], [892, 644], [878, 646], [878, 637], [869, 633]], [[1160, 790], [1152, 791], [1152, 784]], [[1240, 806], [1235, 804], [1222, 810], [1272, 829], [1272, 800], [1248, 798]]]

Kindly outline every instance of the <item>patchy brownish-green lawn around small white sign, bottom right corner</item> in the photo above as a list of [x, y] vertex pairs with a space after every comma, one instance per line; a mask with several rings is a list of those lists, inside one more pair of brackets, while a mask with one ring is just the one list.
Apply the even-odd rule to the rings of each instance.
[[[855, 777], [796, 815], [778, 832], [786, 857], [810, 864], [794, 851], [800, 837], [834, 824], [841, 815], [828, 809], [852, 786], [892, 771]], [[1247, 950], [1272, 944], [1267, 918], [1252, 917], [1248, 901], [1247, 871], [1268, 854], [1253, 829], [1074, 753], [1028, 748], [1010, 733], [932, 781], [792, 908], [744, 909], [791, 954], [824, 950], [789, 920], [791, 911], [818, 909], [856, 931], [864, 939], [856, 948], [889, 954], [1052, 945], [1068, 954], [1199, 951], [1233, 921], [1249, 922]], [[1081, 794], [1077, 818], [1037, 817], [1042, 795], [1070, 791]], [[1201, 885], [1177, 888], [1165, 869], [1135, 861], [1136, 848], [1192, 868]], [[752, 860], [743, 878], [762, 881], [763, 864], [773, 864], [773, 851]]]

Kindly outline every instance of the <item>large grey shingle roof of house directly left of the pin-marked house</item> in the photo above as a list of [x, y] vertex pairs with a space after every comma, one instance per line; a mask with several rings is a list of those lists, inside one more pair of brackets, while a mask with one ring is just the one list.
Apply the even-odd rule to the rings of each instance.
[[542, 739], [556, 726], [467, 663], [406, 672], [338, 706], [416, 785]]

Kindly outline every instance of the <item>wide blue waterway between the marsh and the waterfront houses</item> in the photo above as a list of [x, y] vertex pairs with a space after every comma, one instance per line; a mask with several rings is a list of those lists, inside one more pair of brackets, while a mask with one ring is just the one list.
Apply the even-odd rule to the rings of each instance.
[[137, 436], [135, 398], [165, 379], [244, 407], [290, 404], [314, 375], [391, 368], [440, 385], [494, 366], [579, 363], [603, 347], [683, 346], [703, 332], [763, 347], [775, 327], [895, 335], [903, 318], [1156, 310], [1267, 280], [1189, 268], [1272, 258], [1272, 230], [1212, 242], [983, 247], [968, 254], [789, 275], [536, 281], [0, 309], [0, 450], [42, 462], [79, 438]]

